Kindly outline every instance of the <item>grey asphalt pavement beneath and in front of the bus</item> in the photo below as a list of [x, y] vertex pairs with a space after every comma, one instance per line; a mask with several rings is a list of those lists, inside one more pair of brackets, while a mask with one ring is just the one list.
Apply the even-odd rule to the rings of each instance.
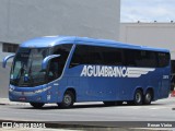
[[[175, 97], [153, 102], [149, 106], [107, 107], [103, 103], [78, 103], [71, 109], [60, 109], [56, 104], [34, 109], [30, 104], [0, 98], [0, 120], [12, 122], [45, 122], [48, 128], [175, 128]], [[150, 126], [150, 127], [149, 127]], [[156, 126], [156, 127], [155, 127]], [[158, 127], [160, 126], [160, 127]], [[127, 129], [125, 129], [127, 128]]]

